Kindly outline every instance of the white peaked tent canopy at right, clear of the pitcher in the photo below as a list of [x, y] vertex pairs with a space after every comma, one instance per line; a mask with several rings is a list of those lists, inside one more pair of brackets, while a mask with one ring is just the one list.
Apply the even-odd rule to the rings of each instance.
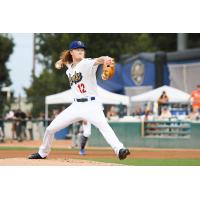
[[169, 102], [189, 102], [190, 95], [188, 93], [185, 93], [181, 90], [178, 90], [176, 88], [166, 86], [166, 85], [156, 88], [155, 90], [133, 96], [131, 97], [131, 101], [132, 102], [146, 102], [146, 101], [156, 102], [158, 101], [163, 91], [166, 92], [169, 98]]

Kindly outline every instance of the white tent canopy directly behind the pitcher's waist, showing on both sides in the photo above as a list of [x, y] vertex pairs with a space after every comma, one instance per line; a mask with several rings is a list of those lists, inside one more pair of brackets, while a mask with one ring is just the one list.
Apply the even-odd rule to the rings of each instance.
[[[129, 97], [126, 95], [115, 94], [107, 90], [104, 90], [103, 88], [99, 86], [97, 88], [97, 91], [103, 104], [129, 105]], [[45, 104], [47, 105], [67, 104], [67, 103], [72, 103], [72, 102], [73, 102], [73, 92], [71, 89], [45, 97]]]

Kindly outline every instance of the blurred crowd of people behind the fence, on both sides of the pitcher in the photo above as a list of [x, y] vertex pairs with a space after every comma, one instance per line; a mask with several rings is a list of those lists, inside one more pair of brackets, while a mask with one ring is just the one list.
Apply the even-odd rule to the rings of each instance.
[[[179, 103], [171, 104], [169, 103], [167, 92], [163, 91], [157, 101], [156, 114], [154, 107], [146, 104], [145, 106], [136, 107], [129, 116], [139, 118], [143, 121], [165, 120], [170, 118], [198, 121], [200, 120], [200, 85], [197, 85], [197, 89], [192, 92], [190, 100], [190, 102], [192, 102], [191, 105], [183, 106]], [[33, 123], [37, 125], [40, 138], [43, 138], [45, 127], [64, 109], [64, 107], [61, 109], [54, 109], [48, 121], [45, 121], [44, 113], [40, 113], [37, 119], [33, 119], [31, 113], [25, 113], [20, 109], [9, 111], [6, 116], [0, 118], [0, 142], [4, 142], [4, 126], [7, 121], [12, 123], [10, 130], [12, 140], [17, 140], [18, 142], [34, 140]], [[104, 107], [104, 113], [108, 120], [119, 120], [120, 118], [127, 117], [128, 114], [127, 107], [122, 104], [115, 106], [107, 105]], [[69, 127], [72, 137], [74, 135], [74, 137], [77, 138], [77, 133], [83, 132], [81, 130], [81, 124], [82, 122], [78, 122]], [[75, 143], [76, 142], [74, 142], [74, 145], [76, 146]]]

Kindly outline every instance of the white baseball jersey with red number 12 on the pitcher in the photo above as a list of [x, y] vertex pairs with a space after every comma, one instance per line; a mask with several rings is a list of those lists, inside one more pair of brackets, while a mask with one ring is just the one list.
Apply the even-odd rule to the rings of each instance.
[[74, 92], [73, 98], [96, 97], [98, 95], [96, 80], [98, 65], [94, 66], [95, 62], [95, 59], [84, 58], [75, 67], [72, 67], [72, 64], [67, 65], [66, 74]]

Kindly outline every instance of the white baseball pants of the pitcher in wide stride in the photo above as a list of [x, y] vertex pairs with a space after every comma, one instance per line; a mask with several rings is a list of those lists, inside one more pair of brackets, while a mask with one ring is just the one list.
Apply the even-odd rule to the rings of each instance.
[[87, 102], [73, 102], [68, 108], [56, 116], [46, 128], [43, 143], [38, 152], [40, 156], [45, 157], [49, 154], [54, 133], [80, 120], [86, 120], [96, 126], [117, 155], [119, 150], [124, 148], [108, 124], [101, 103], [97, 100], [89, 100]]

